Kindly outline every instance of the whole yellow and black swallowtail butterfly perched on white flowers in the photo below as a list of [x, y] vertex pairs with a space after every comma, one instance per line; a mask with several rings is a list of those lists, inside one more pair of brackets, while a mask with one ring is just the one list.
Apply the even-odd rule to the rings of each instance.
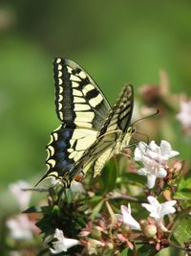
[[100, 174], [105, 163], [128, 146], [135, 132], [134, 90], [125, 85], [111, 107], [96, 82], [73, 60], [54, 58], [53, 74], [55, 110], [62, 124], [51, 134], [48, 171], [40, 181], [52, 178], [70, 187], [91, 167], [94, 176]]

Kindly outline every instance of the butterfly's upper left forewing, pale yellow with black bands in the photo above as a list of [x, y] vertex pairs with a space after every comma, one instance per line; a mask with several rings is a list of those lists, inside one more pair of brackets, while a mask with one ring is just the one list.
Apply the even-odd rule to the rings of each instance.
[[65, 124], [99, 130], [111, 109], [96, 82], [73, 60], [55, 58], [55, 109]]

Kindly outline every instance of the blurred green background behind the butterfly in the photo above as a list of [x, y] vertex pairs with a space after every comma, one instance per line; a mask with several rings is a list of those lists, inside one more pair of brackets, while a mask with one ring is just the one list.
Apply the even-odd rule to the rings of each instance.
[[[0, 190], [17, 179], [34, 184], [46, 171], [45, 146], [59, 124], [54, 57], [82, 65], [111, 104], [125, 82], [136, 91], [158, 84], [161, 68], [172, 93], [190, 95], [191, 2], [1, 0]], [[188, 159], [189, 141], [176, 126], [170, 142]]]

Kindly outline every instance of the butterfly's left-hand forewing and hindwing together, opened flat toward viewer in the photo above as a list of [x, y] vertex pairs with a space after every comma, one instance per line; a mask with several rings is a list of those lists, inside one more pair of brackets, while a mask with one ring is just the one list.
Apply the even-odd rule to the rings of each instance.
[[[53, 130], [47, 146], [48, 176], [67, 183], [74, 163], [95, 141], [110, 105], [96, 82], [74, 61], [53, 61], [55, 109], [63, 125]], [[41, 181], [40, 180], [40, 181]]]

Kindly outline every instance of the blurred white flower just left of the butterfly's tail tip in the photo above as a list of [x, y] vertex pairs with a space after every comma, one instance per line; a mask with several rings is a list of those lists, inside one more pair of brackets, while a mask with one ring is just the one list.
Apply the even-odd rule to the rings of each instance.
[[29, 202], [31, 199], [32, 192], [31, 191], [23, 191], [23, 189], [29, 189], [30, 185], [23, 180], [18, 180], [15, 183], [11, 183], [9, 185], [9, 189], [14, 195], [14, 197], [18, 200], [20, 209], [23, 211], [29, 207]]

